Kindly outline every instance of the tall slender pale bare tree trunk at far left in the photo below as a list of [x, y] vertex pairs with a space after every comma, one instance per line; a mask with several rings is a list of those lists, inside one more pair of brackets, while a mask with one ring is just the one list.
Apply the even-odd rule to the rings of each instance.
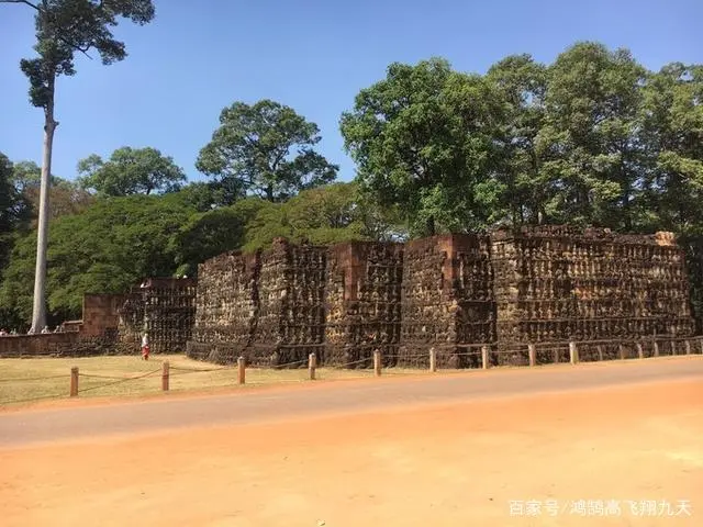
[[36, 268], [34, 270], [34, 304], [32, 307], [32, 329], [40, 333], [46, 325], [46, 249], [48, 246], [48, 190], [52, 175], [52, 148], [54, 131], [54, 75], [48, 82], [49, 99], [44, 110], [44, 150], [42, 154], [42, 186], [40, 190], [38, 233], [36, 235]]

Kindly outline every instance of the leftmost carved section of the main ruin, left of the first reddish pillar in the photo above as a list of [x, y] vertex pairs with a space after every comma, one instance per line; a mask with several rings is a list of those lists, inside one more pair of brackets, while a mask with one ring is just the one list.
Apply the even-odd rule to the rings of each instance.
[[324, 355], [326, 247], [277, 239], [255, 255], [230, 254], [199, 268], [192, 358], [253, 366], [305, 366]]

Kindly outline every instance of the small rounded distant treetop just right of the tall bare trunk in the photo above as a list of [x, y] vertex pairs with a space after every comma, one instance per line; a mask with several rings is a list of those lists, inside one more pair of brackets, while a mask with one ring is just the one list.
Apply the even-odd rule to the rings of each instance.
[[108, 161], [93, 154], [78, 162], [78, 173], [83, 189], [110, 197], [175, 192], [186, 181], [171, 157], [149, 147], [118, 148]]

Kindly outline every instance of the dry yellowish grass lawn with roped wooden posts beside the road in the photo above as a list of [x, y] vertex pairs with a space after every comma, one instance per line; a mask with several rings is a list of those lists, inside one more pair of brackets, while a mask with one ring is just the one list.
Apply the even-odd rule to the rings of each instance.
[[[183, 355], [0, 359], [0, 407], [68, 397], [70, 369], [79, 370], [79, 397], [140, 396], [161, 391], [161, 363], [170, 365], [170, 391], [202, 391], [263, 384], [311, 382], [306, 369], [247, 368], [246, 384], [237, 384], [237, 369], [191, 360]], [[421, 373], [391, 368], [383, 375]], [[319, 368], [317, 380], [372, 377], [372, 370]]]

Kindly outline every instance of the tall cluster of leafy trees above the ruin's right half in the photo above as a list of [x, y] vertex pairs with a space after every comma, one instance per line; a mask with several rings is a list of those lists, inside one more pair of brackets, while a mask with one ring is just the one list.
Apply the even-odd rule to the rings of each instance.
[[554, 64], [507, 57], [486, 76], [393, 64], [342, 119], [365, 189], [413, 233], [498, 223], [626, 231], [701, 225], [703, 72], [647, 71], [579, 43]]

